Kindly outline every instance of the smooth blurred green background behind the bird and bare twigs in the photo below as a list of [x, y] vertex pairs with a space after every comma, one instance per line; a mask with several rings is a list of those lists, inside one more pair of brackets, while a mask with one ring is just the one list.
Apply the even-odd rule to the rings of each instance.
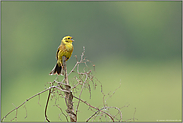
[[[109, 106], [122, 108], [123, 121], [182, 120], [182, 2], [1, 2], [1, 118], [25, 99], [45, 89], [65, 35], [73, 36], [68, 70], [85, 46], [94, 75], [107, 94], [120, 86]], [[91, 67], [92, 68], [92, 67]], [[62, 77], [60, 77], [61, 79]], [[18, 110], [17, 121], [43, 122], [48, 92]], [[102, 105], [100, 86], [82, 98]], [[38, 104], [41, 104], [41, 106]], [[66, 109], [64, 101], [60, 105]], [[51, 121], [60, 121], [54, 101]], [[78, 121], [92, 112], [80, 105]], [[26, 116], [27, 111], [27, 118]], [[10, 121], [15, 112], [5, 121]], [[62, 121], [65, 121], [62, 118]]]

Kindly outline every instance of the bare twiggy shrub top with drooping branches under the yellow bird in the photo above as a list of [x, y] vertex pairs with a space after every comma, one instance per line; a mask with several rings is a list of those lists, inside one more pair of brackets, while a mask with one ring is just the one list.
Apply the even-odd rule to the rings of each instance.
[[[92, 70], [89, 68], [89, 63], [93, 64], [91, 61], [89, 61], [88, 59], [86, 59], [84, 57], [85, 54], [85, 47], [83, 47], [83, 52], [80, 56], [80, 60], [78, 60], [77, 56], [76, 57], [76, 64], [74, 65], [74, 67], [72, 68], [72, 70], [69, 72], [69, 74], [67, 74], [67, 66], [66, 66], [66, 60], [67, 58], [65, 56], [62, 57], [62, 73], [64, 74], [64, 77], [62, 79], [62, 81], [59, 81], [58, 76], [56, 76], [55, 80], [53, 82], [48, 82], [47, 84], [49, 84], [49, 88], [45, 88], [45, 90], [33, 95], [32, 97], [26, 99], [26, 101], [24, 101], [22, 104], [20, 104], [18, 107], [15, 106], [15, 109], [11, 110], [10, 112], [8, 112], [8, 114], [6, 114], [1, 122], [4, 121], [4, 119], [13, 111], [16, 110], [16, 114], [15, 117], [12, 120], [17, 120], [17, 112], [18, 109], [23, 106], [23, 108], [25, 108], [26, 111], [26, 116], [27, 117], [27, 109], [25, 106], [25, 103], [27, 101], [29, 101], [30, 99], [39, 96], [38, 98], [38, 104], [40, 105], [40, 95], [46, 91], [49, 90], [49, 94], [48, 94], [48, 98], [46, 101], [46, 106], [45, 106], [45, 120], [47, 122], [50, 122], [50, 120], [48, 119], [47, 116], [47, 109], [48, 109], [48, 103], [49, 101], [55, 101], [55, 104], [53, 106], [56, 106], [58, 109], [60, 109], [61, 113], [59, 113], [59, 119], [62, 120], [61, 115], [63, 115], [66, 119], [67, 122], [69, 122], [68, 120], [68, 116], [70, 117], [70, 121], [71, 122], [77, 122], [77, 113], [79, 111], [79, 106], [81, 105], [80, 103], [84, 103], [88, 106], [88, 110], [92, 111], [93, 114], [91, 116], [89, 116], [89, 118], [86, 120], [86, 122], [89, 121], [102, 121], [104, 122], [106, 121], [118, 121], [118, 122], [122, 122], [122, 112], [121, 109], [124, 107], [128, 107], [128, 105], [125, 105], [121, 108], [118, 107], [109, 107], [107, 104], [107, 100], [109, 98], [111, 98], [115, 92], [121, 87], [121, 84], [118, 88], [116, 88], [113, 92], [109, 92], [107, 94], [105, 94], [103, 92], [103, 87], [102, 87], [102, 83], [92, 74]], [[89, 62], [89, 63], [88, 63]], [[82, 66], [84, 65], [84, 67]], [[95, 71], [95, 65], [92, 65]], [[71, 73], [76, 73], [77, 75], [74, 76], [72, 79], [72, 81], [70, 81], [71, 85], [69, 84], [69, 80], [68, 80], [68, 76]], [[97, 108], [95, 106], [92, 106], [90, 103], [84, 101], [83, 99], [81, 99], [81, 95], [82, 93], [84, 93], [84, 89], [87, 89], [89, 91], [90, 94], [90, 98], [91, 98], [91, 90], [92, 87], [94, 89], [96, 89], [98, 83], [100, 85], [101, 88], [101, 93], [103, 95], [103, 104], [102, 107]], [[46, 85], [45, 85], [46, 86]], [[72, 90], [72, 91], [71, 91]], [[74, 96], [73, 94], [78, 93], [78, 97]], [[67, 106], [66, 112], [64, 113], [62, 108], [59, 106], [59, 104], [57, 104], [59, 102], [59, 97], [61, 97], [62, 99], [65, 99], [65, 104]], [[76, 98], [76, 112], [74, 112], [74, 106], [73, 106], [73, 97]], [[41, 105], [40, 105], [41, 106]], [[115, 113], [113, 114], [113, 110], [115, 111]], [[135, 118], [135, 113], [136, 113], [136, 108], [135, 108], [135, 112], [133, 114], [133, 118], [128, 119], [128, 121], [134, 121], [136, 120]], [[12, 121], [11, 120], [11, 121]]]

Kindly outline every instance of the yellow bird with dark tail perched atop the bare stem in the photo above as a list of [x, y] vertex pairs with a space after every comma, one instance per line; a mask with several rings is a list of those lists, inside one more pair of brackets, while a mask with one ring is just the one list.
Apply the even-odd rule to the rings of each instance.
[[53, 70], [50, 72], [49, 75], [54, 75], [54, 74], [63, 75], [62, 57], [63, 56], [66, 57], [66, 59], [64, 59], [65, 61], [67, 61], [71, 57], [72, 51], [73, 51], [73, 45], [72, 45], [73, 41], [74, 40], [72, 39], [71, 36], [65, 36], [62, 39], [61, 44], [58, 47], [58, 50], [56, 53], [57, 64], [55, 65], [55, 67], [53, 68]]

